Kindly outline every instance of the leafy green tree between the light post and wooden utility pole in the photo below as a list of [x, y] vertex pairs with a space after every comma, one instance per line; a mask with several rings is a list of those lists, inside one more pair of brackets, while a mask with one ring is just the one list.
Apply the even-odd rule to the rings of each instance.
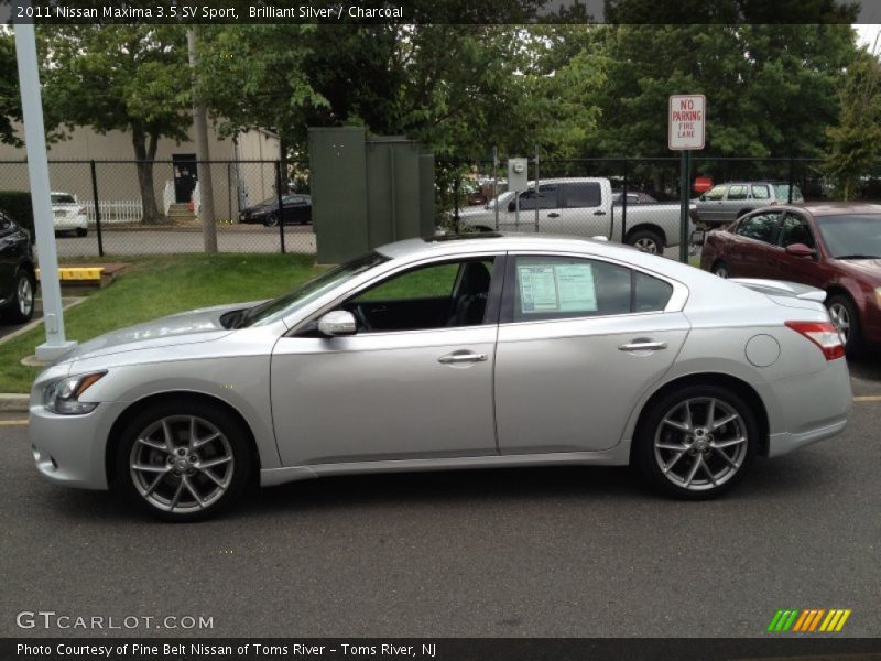
[[137, 160], [143, 221], [160, 217], [153, 161], [160, 138], [186, 140], [191, 78], [178, 25], [53, 25], [41, 31], [50, 126], [126, 131]]

